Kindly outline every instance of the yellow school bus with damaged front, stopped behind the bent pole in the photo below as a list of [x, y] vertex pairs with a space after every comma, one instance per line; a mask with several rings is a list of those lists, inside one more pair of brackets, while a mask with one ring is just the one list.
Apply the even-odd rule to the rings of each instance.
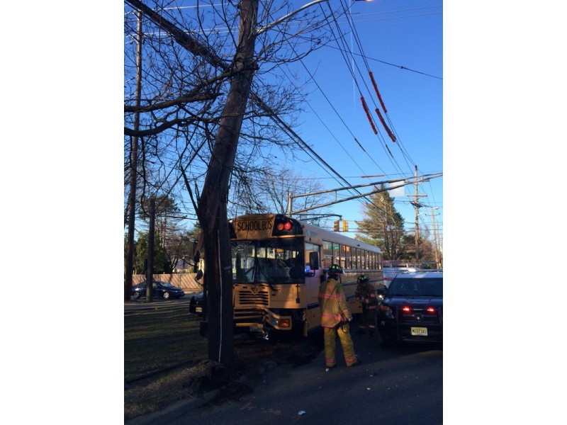
[[279, 214], [229, 220], [235, 330], [266, 339], [275, 331], [307, 336], [321, 325], [319, 285], [332, 264], [342, 266], [344, 293], [353, 314], [357, 278], [383, 287], [378, 246]]

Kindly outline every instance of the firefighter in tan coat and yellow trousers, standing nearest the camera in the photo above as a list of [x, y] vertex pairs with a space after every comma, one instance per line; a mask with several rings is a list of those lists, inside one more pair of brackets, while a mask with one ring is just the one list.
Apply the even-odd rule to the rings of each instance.
[[339, 335], [344, 362], [347, 366], [359, 363], [358, 357], [354, 354], [354, 344], [350, 336], [349, 322], [352, 320], [352, 313], [347, 305], [347, 297], [340, 282], [339, 274], [342, 274], [342, 267], [331, 264], [327, 270], [327, 280], [322, 281], [319, 287], [319, 305], [321, 306], [321, 327], [325, 339], [325, 365], [327, 368], [335, 366], [335, 346], [336, 336]]

